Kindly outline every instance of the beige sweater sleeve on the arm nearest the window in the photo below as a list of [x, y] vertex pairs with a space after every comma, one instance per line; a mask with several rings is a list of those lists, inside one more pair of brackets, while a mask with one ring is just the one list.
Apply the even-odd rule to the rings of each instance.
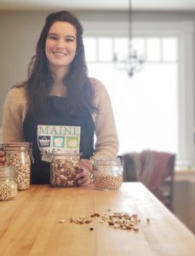
[[95, 154], [92, 159], [114, 158], [118, 154], [118, 134], [116, 130], [112, 103], [106, 87], [93, 79], [95, 86], [95, 105], [99, 113], [95, 114]]

